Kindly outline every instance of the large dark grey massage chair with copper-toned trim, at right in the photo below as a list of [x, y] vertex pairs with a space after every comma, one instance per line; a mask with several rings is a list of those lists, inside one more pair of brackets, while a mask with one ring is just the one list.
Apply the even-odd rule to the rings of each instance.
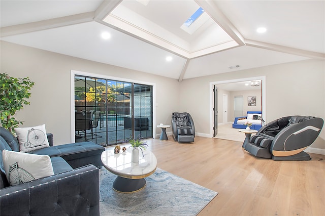
[[286, 116], [261, 127], [244, 149], [256, 157], [273, 160], [310, 160], [304, 150], [318, 137], [323, 119]]

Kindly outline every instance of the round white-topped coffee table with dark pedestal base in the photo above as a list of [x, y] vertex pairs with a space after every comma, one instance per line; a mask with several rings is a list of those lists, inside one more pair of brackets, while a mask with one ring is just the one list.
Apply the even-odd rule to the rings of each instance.
[[117, 175], [113, 182], [113, 189], [121, 193], [134, 193], [146, 186], [145, 177], [154, 173], [157, 168], [157, 159], [149, 150], [139, 150], [139, 162], [132, 162], [132, 147], [126, 147], [126, 152], [114, 154], [114, 147], [106, 148], [101, 159], [103, 166]]

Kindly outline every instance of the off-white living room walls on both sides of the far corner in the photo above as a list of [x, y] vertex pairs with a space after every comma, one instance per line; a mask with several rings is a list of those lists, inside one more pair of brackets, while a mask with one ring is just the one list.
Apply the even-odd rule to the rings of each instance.
[[[267, 122], [287, 115], [325, 119], [325, 61], [305, 60], [249, 70], [185, 79], [178, 82], [135, 70], [60, 55], [1, 41], [1, 72], [35, 81], [30, 105], [16, 118], [23, 126], [46, 124], [56, 145], [71, 141], [70, 71], [153, 82], [156, 84], [156, 123], [171, 123], [174, 111], [189, 112], [198, 135], [210, 134], [210, 82], [266, 76]], [[168, 87], [168, 88], [166, 88]], [[155, 125], [154, 125], [155, 126]], [[170, 128], [168, 128], [170, 131]], [[160, 134], [157, 131], [156, 134]], [[312, 144], [325, 149], [325, 132]]]

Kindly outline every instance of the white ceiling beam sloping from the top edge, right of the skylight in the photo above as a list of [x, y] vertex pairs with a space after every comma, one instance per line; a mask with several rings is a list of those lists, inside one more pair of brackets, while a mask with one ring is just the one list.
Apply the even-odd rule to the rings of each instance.
[[237, 28], [224, 16], [215, 1], [194, 0], [218, 25], [231, 36], [239, 46], [245, 45], [245, 39]]

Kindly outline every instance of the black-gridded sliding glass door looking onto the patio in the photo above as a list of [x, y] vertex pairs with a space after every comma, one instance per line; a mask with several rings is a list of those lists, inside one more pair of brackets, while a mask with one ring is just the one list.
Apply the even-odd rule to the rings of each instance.
[[152, 86], [76, 75], [75, 114], [76, 142], [152, 138]]

